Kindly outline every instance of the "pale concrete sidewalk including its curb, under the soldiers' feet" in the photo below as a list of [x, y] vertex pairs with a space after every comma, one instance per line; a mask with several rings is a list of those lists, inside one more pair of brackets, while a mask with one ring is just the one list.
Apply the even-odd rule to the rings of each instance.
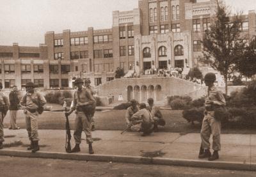
[[[73, 131], [71, 133], [73, 134]], [[0, 155], [256, 171], [256, 135], [221, 135], [220, 159], [209, 162], [207, 159], [199, 160], [197, 158], [200, 134], [180, 135], [157, 132], [148, 137], [141, 137], [137, 132], [125, 132], [121, 135], [120, 131], [95, 131], [93, 132], [95, 155], [88, 155], [84, 133], [81, 152], [74, 154], [65, 152], [65, 130], [39, 130], [40, 151], [35, 154], [26, 151], [29, 145], [26, 130], [4, 129], [4, 134], [6, 136], [4, 144], [18, 141], [17, 144], [20, 146], [4, 148], [0, 150]]]

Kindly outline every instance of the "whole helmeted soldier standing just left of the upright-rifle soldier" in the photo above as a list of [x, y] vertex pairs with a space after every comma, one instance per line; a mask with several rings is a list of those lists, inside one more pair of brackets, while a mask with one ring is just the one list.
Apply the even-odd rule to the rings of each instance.
[[36, 85], [33, 82], [28, 82], [26, 85], [26, 95], [23, 96], [20, 105], [24, 106], [24, 114], [26, 117], [26, 129], [31, 142], [28, 150], [33, 153], [39, 151], [38, 145], [38, 115], [42, 112], [40, 109], [46, 104], [44, 96], [35, 91]]

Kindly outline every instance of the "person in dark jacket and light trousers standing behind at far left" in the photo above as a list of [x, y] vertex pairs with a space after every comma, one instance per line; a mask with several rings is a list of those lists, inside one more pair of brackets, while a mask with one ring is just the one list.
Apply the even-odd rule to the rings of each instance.
[[9, 129], [19, 130], [17, 127], [16, 119], [17, 119], [17, 111], [19, 109], [20, 100], [18, 98], [17, 86], [12, 86], [12, 91], [9, 94], [10, 100], [10, 127]]

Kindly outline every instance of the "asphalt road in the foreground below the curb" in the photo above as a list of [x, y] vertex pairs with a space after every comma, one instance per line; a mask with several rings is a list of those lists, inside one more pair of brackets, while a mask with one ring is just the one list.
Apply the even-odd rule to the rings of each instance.
[[86, 162], [76, 160], [52, 160], [42, 158], [0, 158], [0, 176], [49, 177], [162, 177], [162, 176], [207, 176], [207, 177], [254, 177], [255, 172], [176, 167], [165, 165], [122, 164], [111, 162]]

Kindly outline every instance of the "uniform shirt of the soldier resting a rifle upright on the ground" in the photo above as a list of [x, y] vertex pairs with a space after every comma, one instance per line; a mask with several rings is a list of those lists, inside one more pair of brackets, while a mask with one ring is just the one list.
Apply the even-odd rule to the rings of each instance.
[[[79, 96], [79, 98], [78, 98]], [[88, 102], [89, 105], [95, 104], [95, 100], [88, 89], [83, 88], [81, 90], [75, 91], [74, 98], [73, 98], [74, 105], [72, 109], [76, 109], [77, 102], [86, 103]]]

